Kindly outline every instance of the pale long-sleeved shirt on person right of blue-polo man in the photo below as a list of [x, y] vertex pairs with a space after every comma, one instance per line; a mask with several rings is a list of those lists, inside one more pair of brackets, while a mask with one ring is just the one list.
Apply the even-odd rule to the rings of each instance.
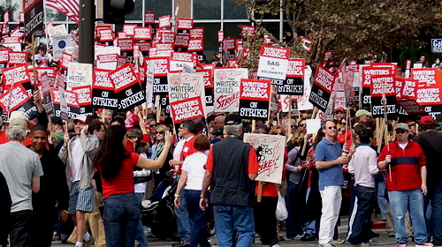
[[356, 148], [352, 160], [348, 163], [348, 171], [354, 173], [354, 183], [364, 187], [375, 188], [377, 168], [376, 151], [368, 145]]

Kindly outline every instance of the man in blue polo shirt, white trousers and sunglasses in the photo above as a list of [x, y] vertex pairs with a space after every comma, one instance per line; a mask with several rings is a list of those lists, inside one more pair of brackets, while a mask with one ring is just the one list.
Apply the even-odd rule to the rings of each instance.
[[322, 124], [325, 137], [316, 145], [315, 165], [319, 172], [319, 192], [323, 208], [319, 225], [319, 246], [332, 247], [334, 227], [339, 217], [342, 194], [340, 186], [344, 183], [342, 164], [347, 164], [353, 152], [348, 157], [341, 156], [342, 149], [336, 141], [336, 124], [327, 120]]

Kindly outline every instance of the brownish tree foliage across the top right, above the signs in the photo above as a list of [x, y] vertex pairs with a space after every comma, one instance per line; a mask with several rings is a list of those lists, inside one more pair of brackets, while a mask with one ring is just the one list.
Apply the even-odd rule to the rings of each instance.
[[[420, 34], [438, 34], [442, 28], [440, 0], [236, 0], [247, 4], [248, 19], [255, 24], [257, 34], [248, 38], [248, 65], [254, 66], [256, 49], [263, 44], [263, 34], [281, 47], [289, 48], [293, 56], [305, 57], [319, 64], [326, 50], [333, 50], [335, 60], [357, 59], [371, 53], [382, 53], [385, 46], [418, 42]], [[263, 17], [278, 16], [282, 10], [289, 30], [284, 41], [269, 34], [263, 27]], [[311, 52], [301, 46], [306, 34]], [[428, 41], [427, 41], [428, 42]], [[254, 58], [255, 57], [255, 58]]]

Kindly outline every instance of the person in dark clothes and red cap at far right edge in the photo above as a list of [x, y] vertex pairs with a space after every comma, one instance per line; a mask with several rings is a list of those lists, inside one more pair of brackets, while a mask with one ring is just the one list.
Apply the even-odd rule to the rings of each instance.
[[435, 245], [442, 245], [442, 133], [436, 131], [436, 121], [431, 116], [421, 117], [422, 132], [415, 141], [427, 158], [427, 198], [431, 201], [431, 226], [429, 235]]

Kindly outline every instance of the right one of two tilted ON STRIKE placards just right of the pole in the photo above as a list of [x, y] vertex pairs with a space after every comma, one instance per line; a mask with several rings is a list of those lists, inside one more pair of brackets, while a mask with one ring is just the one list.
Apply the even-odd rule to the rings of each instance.
[[146, 101], [132, 64], [126, 64], [115, 71], [110, 71], [109, 76], [119, 101], [118, 109], [130, 109]]

